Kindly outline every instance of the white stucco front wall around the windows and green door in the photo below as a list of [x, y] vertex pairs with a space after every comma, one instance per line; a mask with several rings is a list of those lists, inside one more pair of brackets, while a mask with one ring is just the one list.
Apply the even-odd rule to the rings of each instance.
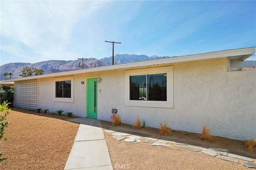
[[[255, 138], [256, 71], [227, 72], [226, 62], [226, 58], [218, 58], [174, 63], [174, 108], [125, 106], [124, 69], [74, 75], [74, 103], [53, 102], [53, 77], [38, 79], [38, 107], [85, 117], [86, 77], [100, 76], [100, 120], [112, 121], [111, 111], [116, 108], [122, 123], [130, 125], [139, 117], [146, 120], [147, 127], [160, 128], [160, 123], [168, 121], [174, 130], [201, 133], [206, 124], [216, 136]], [[18, 102], [17, 91], [15, 95]]]

